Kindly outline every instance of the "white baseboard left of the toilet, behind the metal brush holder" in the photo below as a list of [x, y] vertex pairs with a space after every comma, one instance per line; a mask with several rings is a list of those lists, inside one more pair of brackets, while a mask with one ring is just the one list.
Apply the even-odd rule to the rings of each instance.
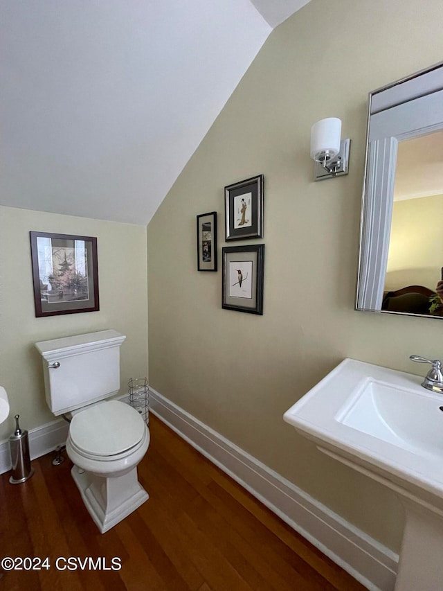
[[[68, 436], [69, 425], [66, 421], [59, 419], [47, 423], [42, 427], [29, 430], [29, 452], [30, 459], [43, 456], [57, 446], [64, 445]], [[9, 441], [0, 441], [0, 474], [11, 469], [11, 456]]]

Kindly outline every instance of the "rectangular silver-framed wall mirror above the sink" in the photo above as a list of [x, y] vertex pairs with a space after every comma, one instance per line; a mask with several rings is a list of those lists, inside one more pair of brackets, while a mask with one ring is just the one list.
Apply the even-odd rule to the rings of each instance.
[[356, 309], [443, 318], [443, 63], [369, 95]]

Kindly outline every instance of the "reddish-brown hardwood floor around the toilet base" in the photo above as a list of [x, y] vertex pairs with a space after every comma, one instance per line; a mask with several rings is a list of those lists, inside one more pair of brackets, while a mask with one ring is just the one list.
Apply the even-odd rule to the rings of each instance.
[[[138, 466], [150, 499], [105, 534], [84, 508], [69, 459], [61, 466], [51, 464], [53, 454], [34, 460], [35, 474], [24, 484], [0, 476], [0, 558], [47, 556], [49, 566], [3, 569], [0, 588], [363, 590], [154, 416], [150, 431]], [[82, 570], [88, 557], [93, 563]]]

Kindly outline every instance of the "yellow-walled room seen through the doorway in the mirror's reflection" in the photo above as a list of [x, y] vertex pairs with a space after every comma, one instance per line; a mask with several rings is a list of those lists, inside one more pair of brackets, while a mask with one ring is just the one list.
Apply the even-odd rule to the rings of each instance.
[[400, 141], [382, 310], [443, 316], [443, 131]]

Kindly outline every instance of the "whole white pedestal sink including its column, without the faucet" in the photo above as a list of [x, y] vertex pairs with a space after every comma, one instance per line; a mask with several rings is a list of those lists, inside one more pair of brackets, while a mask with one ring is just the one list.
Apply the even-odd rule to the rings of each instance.
[[284, 420], [391, 488], [406, 510], [395, 591], [443, 589], [443, 395], [423, 378], [345, 359]]

